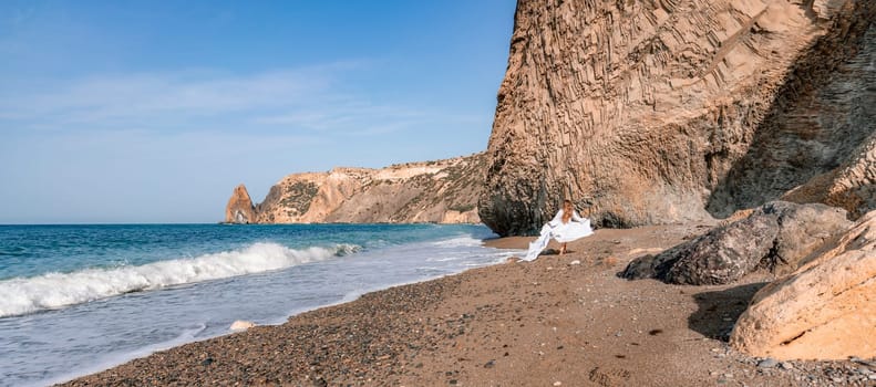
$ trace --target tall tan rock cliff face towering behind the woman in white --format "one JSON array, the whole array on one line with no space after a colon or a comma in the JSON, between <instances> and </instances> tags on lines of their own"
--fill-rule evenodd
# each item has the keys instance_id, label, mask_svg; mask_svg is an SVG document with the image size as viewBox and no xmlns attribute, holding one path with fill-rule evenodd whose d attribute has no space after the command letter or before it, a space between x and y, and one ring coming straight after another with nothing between
<instances>
[{"instance_id":1,"label":"tall tan rock cliff face towering behind the woman in white","mask_svg":"<svg viewBox=\"0 0 876 387\"><path fill-rule=\"evenodd\" d=\"M866 212L874 19L875 1L519 0L482 220L532 233L565 198L602 226L710 220L794 188Z\"/></svg>"}]
</instances>

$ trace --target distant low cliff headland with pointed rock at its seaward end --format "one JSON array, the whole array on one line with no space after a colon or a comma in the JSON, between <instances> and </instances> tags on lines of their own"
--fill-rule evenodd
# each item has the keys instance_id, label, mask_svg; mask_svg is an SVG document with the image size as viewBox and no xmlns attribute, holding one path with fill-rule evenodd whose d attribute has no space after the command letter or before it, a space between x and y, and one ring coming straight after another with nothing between
<instances>
[{"instance_id":1,"label":"distant low cliff headland with pointed rock at its seaward end","mask_svg":"<svg viewBox=\"0 0 876 387\"><path fill-rule=\"evenodd\" d=\"M393 165L382 169L334 168L292 174L247 212L243 186L226 209L231 223L477 223L484 155ZM244 196L246 199L244 199Z\"/></svg>"}]
</instances>

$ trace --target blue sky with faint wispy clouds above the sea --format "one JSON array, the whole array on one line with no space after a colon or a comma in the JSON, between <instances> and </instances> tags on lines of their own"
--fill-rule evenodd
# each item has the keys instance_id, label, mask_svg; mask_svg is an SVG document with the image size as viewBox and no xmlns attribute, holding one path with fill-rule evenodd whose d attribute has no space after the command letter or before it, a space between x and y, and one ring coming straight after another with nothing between
<instances>
[{"instance_id":1,"label":"blue sky with faint wispy clouds above the sea","mask_svg":"<svg viewBox=\"0 0 876 387\"><path fill-rule=\"evenodd\" d=\"M514 0L0 2L0 223L214 222L486 148Z\"/></svg>"}]
</instances>

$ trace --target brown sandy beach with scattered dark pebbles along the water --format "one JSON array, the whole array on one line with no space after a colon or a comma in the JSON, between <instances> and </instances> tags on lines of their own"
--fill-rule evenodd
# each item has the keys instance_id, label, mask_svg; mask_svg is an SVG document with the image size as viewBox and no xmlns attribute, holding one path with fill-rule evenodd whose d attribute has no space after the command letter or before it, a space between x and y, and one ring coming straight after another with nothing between
<instances>
[{"instance_id":1,"label":"brown sandy beach with scattered dark pebbles along the water","mask_svg":"<svg viewBox=\"0 0 876 387\"><path fill-rule=\"evenodd\" d=\"M722 286L617 276L709 229L598 230L507 262L192 343L69 386L873 386L876 364L763 362L726 345L755 273ZM524 248L530 238L491 240ZM552 251L553 249L553 251ZM159 316L156 316L159 318Z\"/></svg>"}]
</instances>

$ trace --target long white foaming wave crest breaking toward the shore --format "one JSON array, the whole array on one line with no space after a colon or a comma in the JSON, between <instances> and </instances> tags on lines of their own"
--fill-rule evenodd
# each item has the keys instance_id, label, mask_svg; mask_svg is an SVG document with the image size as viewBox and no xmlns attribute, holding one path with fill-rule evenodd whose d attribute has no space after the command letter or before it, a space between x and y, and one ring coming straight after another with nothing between
<instances>
[{"instance_id":1,"label":"long white foaming wave crest breaking toward the shore","mask_svg":"<svg viewBox=\"0 0 876 387\"><path fill-rule=\"evenodd\" d=\"M0 317L59 308L114 295L166 286L280 270L358 252L338 244L302 250L259 242L246 249L190 259L158 261L140 266L86 269L0 281Z\"/></svg>"}]
</instances>

